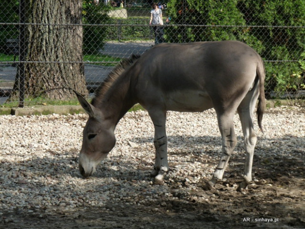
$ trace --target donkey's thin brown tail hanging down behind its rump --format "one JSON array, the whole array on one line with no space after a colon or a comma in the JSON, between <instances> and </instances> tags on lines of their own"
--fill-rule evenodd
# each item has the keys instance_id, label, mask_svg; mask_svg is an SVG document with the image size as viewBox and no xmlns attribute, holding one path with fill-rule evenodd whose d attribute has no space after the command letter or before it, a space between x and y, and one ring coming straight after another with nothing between
<instances>
[{"instance_id":1,"label":"donkey's thin brown tail hanging down behind its rump","mask_svg":"<svg viewBox=\"0 0 305 229\"><path fill-rule=\"evenodd\" d=\"M264 85L265 85L265 65L263 63L263 60L261 59L261 62L259 63L259 65L257 65L257 69L256 69L258 78L259 78L259 98L258 98L258 105L257 105L257 109L256 109L256 114L257 114L257 123L259 126L259 129L263 131L262 128L262 120L263 120L263 115L266 109L266 98L265 98L265 89L264 89Z\"/></svg>"}]
</instances>

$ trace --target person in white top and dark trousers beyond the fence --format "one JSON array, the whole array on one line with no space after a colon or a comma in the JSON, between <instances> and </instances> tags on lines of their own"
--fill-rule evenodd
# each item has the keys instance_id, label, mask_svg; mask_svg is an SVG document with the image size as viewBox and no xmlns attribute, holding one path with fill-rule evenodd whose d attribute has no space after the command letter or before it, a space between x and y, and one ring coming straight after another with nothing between
<instances>
[{"instance_id":1,"label":"person in white top and dark trousers beyond the fence","mask_svg":"<svg viewBox=\"0 0 305 229\"><path fill-rule=\"evenodd\" d=\"M164 32L163 32L163 20L162 20L162 10L158 7L156 3L152 4L151 10L151 20L150 25L153 25L154 31L154 44L159 44L164 42Z\"/></svg>"}]
</instances>

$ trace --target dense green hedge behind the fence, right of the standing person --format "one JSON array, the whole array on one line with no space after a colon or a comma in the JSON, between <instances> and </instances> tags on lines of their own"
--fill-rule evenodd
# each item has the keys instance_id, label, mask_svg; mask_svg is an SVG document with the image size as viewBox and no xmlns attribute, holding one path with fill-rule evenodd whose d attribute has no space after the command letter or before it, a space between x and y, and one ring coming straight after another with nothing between
<instances>
[{"instance_id":1,"label":"dense green hedge behind the fence, right of the standing person","mask_svg":"<svg viewBox=\"0 0 305 229\"><path fill-rule=\"evenodd\" d=\"M267 94L302 89L303 62L274 61L304 61L305 1L169 0L167 6L175 25L166 29L169 42L244 41L267 61Z\"/></svg>"}]
</instances>

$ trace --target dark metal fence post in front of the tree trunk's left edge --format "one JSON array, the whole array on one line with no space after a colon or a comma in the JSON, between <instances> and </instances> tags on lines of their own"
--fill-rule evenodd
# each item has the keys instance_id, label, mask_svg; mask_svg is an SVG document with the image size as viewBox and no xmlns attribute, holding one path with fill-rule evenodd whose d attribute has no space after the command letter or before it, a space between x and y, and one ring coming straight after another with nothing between
<instances>
[{"instance_id":1,"label":"dark metal fence post in front of the tree trunk's left edge","mask_svg":"<svg viewBox=\"0 0 305 229\"><path fill-rule=\"evenodd\" d=\"M20 0L20 27L19 27L19 107L24 107L25 99L25 33L26 33L26 2Z\"/></svg>"}]
</instances>

